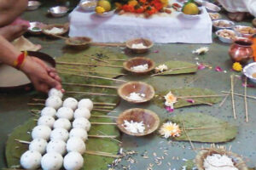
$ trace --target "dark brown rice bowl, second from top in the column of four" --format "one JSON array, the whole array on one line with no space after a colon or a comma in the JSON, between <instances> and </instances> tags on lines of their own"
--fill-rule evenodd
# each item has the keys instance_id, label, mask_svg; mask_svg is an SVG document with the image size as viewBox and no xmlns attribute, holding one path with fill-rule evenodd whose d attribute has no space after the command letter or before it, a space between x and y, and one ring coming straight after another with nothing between
<instances>
[{"instance_id":1,"label":"dark brown rice bowl, second from top in the column of four","mask_svg":"<svg viewBox=\"0 0 256 170\"><path fill-rule=\"evenodd\" d=\"M137 66L137 65L146 65L148 64L148 69L145 71L134 71L132 67ZM124 69L125 71L132 72L134 74L147 74L150 71L154 70L154 61L145 57L135 57L132 59L129 59L124 62Z\"/></svg>"}]
</instances>

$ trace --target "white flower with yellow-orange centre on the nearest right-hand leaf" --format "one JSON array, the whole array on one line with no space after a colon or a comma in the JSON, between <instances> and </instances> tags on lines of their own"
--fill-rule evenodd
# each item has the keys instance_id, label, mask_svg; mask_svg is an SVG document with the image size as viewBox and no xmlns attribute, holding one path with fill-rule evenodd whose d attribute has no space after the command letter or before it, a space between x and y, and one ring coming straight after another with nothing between
<instances>
[{"instance_id":1,"label":"white flower with yellow-orange centre on the nearest right-hand leaf","mask_svg":"<svg viewBox=\"0 0 256 170\"><path fill-rule=\"evenodd\" d=\"M167 139L180 136L181 130L176 123L166 122L160 127L159 133Z\"/></svg>"}]
</instances>

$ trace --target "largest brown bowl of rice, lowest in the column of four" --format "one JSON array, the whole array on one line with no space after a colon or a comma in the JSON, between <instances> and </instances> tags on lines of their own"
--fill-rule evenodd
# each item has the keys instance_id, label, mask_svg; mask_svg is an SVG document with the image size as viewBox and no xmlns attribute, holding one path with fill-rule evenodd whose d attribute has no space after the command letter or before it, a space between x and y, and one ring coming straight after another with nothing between
<instances>
[{"instance_id":1,"label":"largest brown bowl of rice, lowest in the column of four","mask_svg":"<svg viewBox=\"0 0 256 170\"><path fill-rule=\"evenodd\" d=\"M124 121L128 122L143 122L145 125L145 130L143 133L131 133L123 127ZM154 131L160 126L160 118L153 111L145 110L145 109L129 109L121 113L117 119L117 126L120 131L123 133L129 134L131 136L145 136L150 133L154 133Z\"/></svg>"}]
</instances>

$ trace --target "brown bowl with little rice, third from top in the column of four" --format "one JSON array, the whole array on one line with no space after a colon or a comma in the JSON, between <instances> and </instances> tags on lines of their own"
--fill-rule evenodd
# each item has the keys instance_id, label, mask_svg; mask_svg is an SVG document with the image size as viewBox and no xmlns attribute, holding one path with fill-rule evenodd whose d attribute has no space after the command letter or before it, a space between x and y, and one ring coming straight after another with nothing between
<instances>
[{"instance_id":1,"label":"brown bowl with little rice, third from top in the column of four","mask_svg":"<svg viewBox=\"0 0 256 170\"><path fill-rule=\"evenodd\" d=\"M130 99L131 93L144 94L143 99ZM118 89L119 96L133 104L140 104L154 98L154 88L145 82L127 82L121 85Z\"/></svg>"}]
</instances>

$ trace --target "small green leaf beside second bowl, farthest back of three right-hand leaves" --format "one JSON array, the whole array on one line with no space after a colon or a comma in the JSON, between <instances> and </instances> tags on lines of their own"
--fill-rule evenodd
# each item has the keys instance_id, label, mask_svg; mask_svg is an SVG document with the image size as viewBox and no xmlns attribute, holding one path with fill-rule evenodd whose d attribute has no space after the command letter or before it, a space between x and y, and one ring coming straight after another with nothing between
<instances>
[{"instance_id":1,"label":"small green leaf beside second bowl, farthest back of three right-hand leaves","mask_svg":"<svg viewBox=\"0 0 256 170\"><path fill-rule=\"evenodd\" d=\"M160 75L177 75L195 73L197 71L197 65L185 61L166 61L160 65L167 65L168 71L164 71Z\"/></svg>"}]
</instances>

